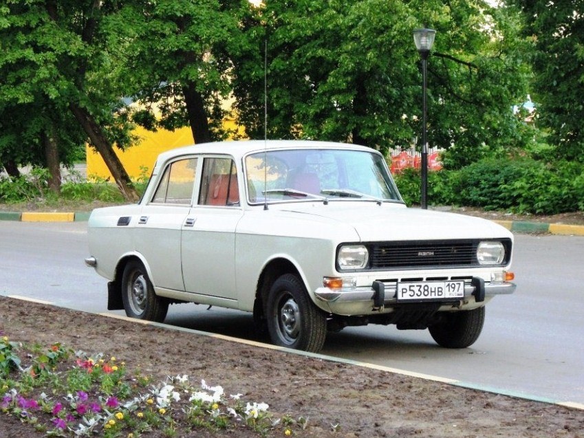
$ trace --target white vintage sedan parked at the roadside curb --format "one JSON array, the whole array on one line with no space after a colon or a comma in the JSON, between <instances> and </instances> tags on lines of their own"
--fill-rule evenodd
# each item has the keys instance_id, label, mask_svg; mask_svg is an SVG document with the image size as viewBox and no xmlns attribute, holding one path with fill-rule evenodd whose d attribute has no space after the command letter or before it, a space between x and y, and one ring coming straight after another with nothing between
<instances>
[{"instance_id":1,"label":"white vintage sedan parked at the roadside curb","mask_svg":"<svg viewBox=\"0 0 584 438\"><path fill-rule=\"evenodd\" d=\"M373 149L217 142L162 153L138 204L94 210L86 263L132 318L199 303L253 312L293 349L369 323L464 348L515 291L512 244L496 223L407 208Z\"/></svg>"}]
</instances>

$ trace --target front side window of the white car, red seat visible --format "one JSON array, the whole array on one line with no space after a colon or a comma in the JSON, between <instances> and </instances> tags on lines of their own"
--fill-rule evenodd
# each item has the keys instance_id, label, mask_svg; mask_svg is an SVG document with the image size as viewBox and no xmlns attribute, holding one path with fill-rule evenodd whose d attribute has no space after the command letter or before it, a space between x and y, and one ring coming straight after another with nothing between
<instances>
[{"instance_id":1,"label":"front side window of the white car, red seat visible","mask_svg":"<svg viewBox=\"0 0 584 438\"><path fill-rule=\"evenodd\" d=\"M237 169L230 158L205 158L199 205L239 206Z\"/></svg>"}]
</instances>

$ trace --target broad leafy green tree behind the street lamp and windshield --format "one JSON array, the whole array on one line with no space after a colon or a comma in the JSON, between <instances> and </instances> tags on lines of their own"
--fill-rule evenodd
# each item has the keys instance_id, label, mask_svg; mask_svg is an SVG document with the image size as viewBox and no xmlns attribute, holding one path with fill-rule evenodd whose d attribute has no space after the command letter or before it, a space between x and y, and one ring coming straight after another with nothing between
<instances>
[{"instance_id":1,"label":"broad leafy green tree behind the street lamp and windshield","mask_svg":"<svg viewBox=\"0 0 584 438\"><path fill-rule=\"evenodd\" d=\"M526 141L511 111L529 74L512 10L480 0L268 1L243 23L256 44L235 58L235 96L252 137L263 135L266 40L270 136L409 146L421 119L412 31L426 25L437 30L431 146L455 146L460 166Z\"/></svg>"}]
</instances>

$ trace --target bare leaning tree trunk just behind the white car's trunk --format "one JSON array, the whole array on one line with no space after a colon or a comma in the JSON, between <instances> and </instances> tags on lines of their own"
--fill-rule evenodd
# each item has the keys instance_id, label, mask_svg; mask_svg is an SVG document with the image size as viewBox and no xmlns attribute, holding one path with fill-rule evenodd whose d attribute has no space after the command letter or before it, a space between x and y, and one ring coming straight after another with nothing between
<instances>
[{"instance_id":1,"label":"bare leaning tree trunk just behind the white car's trunk","mask_svg":"<svg viewBox=\"0 0 584 438\"><path fill-rule=\"evenodd\" d=\"M95 146L97 151L100 153L105 165L109 169L109 173L116 180L118 188L122 195L127 199L127 201L136 202L140 197L136 188L134 188L131 179L126 172L122 162L118 158L118 155L113 152L113 148L109 141L105 137L100 126L94 120L94 118L89 114L89 112L76 104L69 104L69 109L75 116L76 120L79 122L85 133L89 136L91 144Z\"/></svg>"}]
</instances>

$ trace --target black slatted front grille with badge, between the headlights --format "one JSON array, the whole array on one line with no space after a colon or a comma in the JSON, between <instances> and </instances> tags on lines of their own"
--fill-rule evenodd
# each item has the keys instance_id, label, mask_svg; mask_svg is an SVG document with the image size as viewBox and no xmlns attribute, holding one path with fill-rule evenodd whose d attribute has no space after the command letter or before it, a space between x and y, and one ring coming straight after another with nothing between
<instances>
[{"instance_id":1,"label":"black slatted front grille with badge, between the headlights","mask_svg":"<svg viewBox=\"0 0 584 438\"><path fill-rule=\"evenodd\" d=\"M502 241L508 263L511 242ZM370 267L375 270L440 269L444 267L477 267L479 240L376 242L369 247Z\"/></svg>"}]
</instances>

